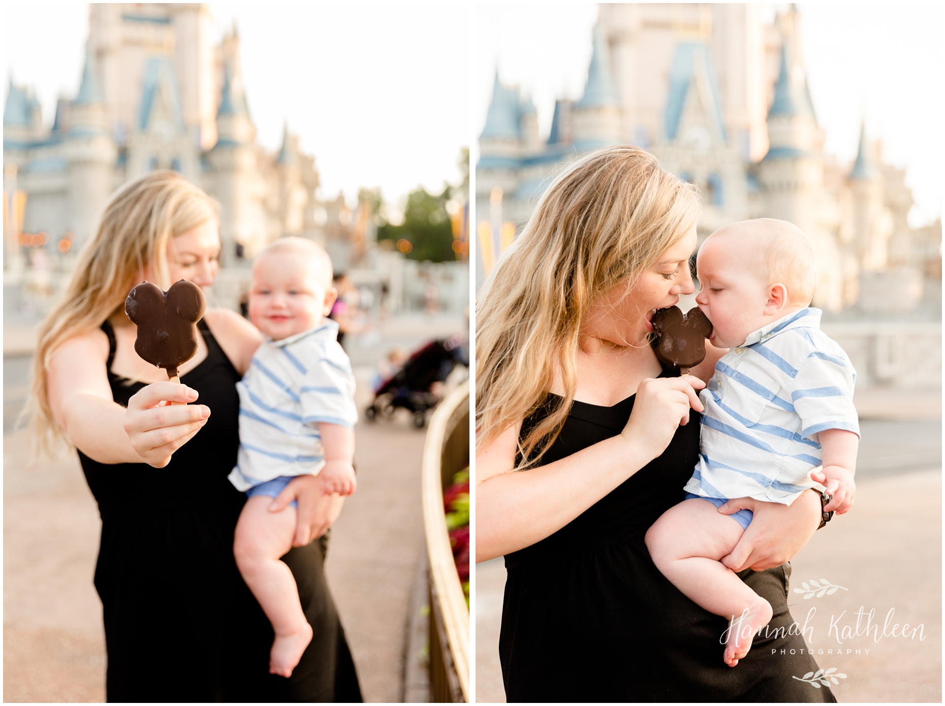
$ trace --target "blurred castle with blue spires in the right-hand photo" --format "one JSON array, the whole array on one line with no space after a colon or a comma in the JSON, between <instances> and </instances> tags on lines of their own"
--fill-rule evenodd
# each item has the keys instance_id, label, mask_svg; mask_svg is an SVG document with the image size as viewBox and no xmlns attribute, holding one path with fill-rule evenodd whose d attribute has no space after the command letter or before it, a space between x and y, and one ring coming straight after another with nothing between
<instances>
[{"instance_id":1,"label":"blurred castle with blue spires in the right-hand photo","mask_svg":"<svg viewBox=\"0 0 945 706\"><path fill-rule=\"evenodd\" d=\"M696 184L700 242L762 216L806 232L819 267L816 306L902 313L919 307L923 287L940 291L941 221L910 228L904 170L883 163L865 128L853 164L824 152L799 11L771 25L762 10L600 5L583 95L556 102L547 138L535 106L496 71L476 165L480 265L488 269L511 242L560 164L634 144Z\"/></svg>"}]
</instances>

